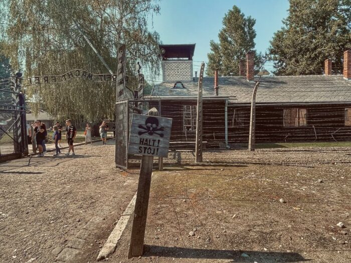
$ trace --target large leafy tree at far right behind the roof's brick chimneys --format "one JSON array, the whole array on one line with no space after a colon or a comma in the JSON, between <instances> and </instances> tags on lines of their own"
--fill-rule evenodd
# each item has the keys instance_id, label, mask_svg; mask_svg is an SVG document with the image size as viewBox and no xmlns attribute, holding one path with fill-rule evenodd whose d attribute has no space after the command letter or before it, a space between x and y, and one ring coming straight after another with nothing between
<instances>
[{"instance_id":1,"label":"large leafy tree at far right behind the roof's brick chimneys","mask_svg":"<svg viewBox=\"0 0 351 263\"><path fill-rule=\"evenodd\" d=\"M342 73L343 51L351 48L350 0L290 0L283 24L268 54L276 74L321 74L325 59Z\"/></svg>"}]
</instances>

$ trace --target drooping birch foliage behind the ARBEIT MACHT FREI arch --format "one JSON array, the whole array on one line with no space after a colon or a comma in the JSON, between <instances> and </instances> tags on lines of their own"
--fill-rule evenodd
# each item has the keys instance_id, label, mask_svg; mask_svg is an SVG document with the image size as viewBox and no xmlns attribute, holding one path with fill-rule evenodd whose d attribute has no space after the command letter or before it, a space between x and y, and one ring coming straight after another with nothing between
<instances>
[{"instance_id":1,"label":"drooping birch foliage behind the ARBEIT MACHT FREI arch","mask_svg":"<svg viewBox=\"0 0 351 263\"><path fill-rule=\"evenodd\" d=\"M2 5L8 14L0 27L5 55L14 69L25 65L25 78L62 75L72 69L108 73L81 31L113 72L118 43L123 43L129 79L135 76L136 61L158 74L159 36L147 27L148 16L159 13L153 0L5 0ZM93 122L114 119L115 89L113 82L73 79L29 86L26 94L34 113L43 109L59 120Z\"/></svg>"}]
</instances>

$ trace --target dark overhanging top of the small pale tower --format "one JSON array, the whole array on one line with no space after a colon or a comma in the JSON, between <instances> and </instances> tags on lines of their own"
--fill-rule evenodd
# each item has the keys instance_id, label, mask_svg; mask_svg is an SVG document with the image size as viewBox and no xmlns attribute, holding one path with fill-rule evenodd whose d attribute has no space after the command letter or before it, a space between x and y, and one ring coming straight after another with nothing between
<instances>
[{"instance_id":1,"label":"dark overhanging top of the small pale tower","mask_svg":"<svg viewBox=\"0 0 351 263\"><path fill-rule=\"evenodd\" d=\"M193 60L195 44L159 45L162 59Z\"/></svg>"}]
</instances>

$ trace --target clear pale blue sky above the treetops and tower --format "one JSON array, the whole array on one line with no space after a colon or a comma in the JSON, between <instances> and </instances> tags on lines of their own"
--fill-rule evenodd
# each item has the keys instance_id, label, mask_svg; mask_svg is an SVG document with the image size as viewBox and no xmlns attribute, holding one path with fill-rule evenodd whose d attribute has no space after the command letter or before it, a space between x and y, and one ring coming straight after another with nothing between
<instances>
[{"instance_id":1,"label":"clear pale blue sky above the treetops and tower","mask_svg":"<svg viewBox=\"0 0 351 263\"><path fill-rule=\"evenodd\" d=\"M256 50L264 53L273 34L288 15L288 0L161 0L160 14L153 16L150 30L159 33L163 44L196 44L193 57L194 71L202 61L207 62L210 41L218 42L222 20L234 5L245 17L256 19ZM265 69L272 70L268 62Z\"/></svg>"}]
</instances>

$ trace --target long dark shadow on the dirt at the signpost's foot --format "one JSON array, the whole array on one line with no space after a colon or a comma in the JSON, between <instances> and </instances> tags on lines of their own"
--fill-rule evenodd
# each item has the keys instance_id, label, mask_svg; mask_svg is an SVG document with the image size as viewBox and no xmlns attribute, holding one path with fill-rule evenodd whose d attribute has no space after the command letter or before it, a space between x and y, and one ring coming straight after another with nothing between
<instances>
[{"instance_id":1,"label":"long dark shadow on the dirt at the signpost's foot","mask_svg":"<svg viewBox=\"0 0 351 263\"><path fill-rule=\"evenodd\" d=\"M157 245L145 245L144 256L160 256L175 258L204 258L204 259L233 259L232 262L252 262L263 260L264 262L301 262L310 261L299 253L272 252L272 251L242 251L242 250L219 250L199 249L184 247L166 247Z\"/></svg>"}]
</instances>

